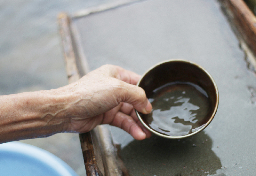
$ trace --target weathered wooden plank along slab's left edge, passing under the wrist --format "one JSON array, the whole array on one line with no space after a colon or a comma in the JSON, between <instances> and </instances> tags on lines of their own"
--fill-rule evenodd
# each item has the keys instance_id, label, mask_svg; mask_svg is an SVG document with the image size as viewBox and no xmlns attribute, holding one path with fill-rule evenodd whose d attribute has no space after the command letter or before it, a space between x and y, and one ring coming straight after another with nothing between
<instances>
[{"instance_id":1,"label":"weathered wooden plank along slab's left edge, passing under the wrist","mask_svg":"<svg viewBox=\"0 0 256 176\"><path fill-rule=\"evenodd\" d=\"M65 13L59 15L60 35L69 83L79 80L89 72L78 33L71 20ZM117 157L112 136L106 127L97 126L88 133L79 134L79 137L87 176L123 175L119 166L122 162Z\"/></svg>"}]
</instances>

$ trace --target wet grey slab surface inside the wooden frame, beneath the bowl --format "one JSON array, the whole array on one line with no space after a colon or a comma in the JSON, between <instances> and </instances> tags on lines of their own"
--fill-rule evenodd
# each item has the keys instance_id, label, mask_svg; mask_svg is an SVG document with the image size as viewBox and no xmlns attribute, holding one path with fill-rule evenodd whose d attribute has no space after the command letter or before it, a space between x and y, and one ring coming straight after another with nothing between
<instances>
[{"instance_id":1,"label":"wet grey slab surface inside the wooden frame, beneath the bowl","mask_svg":"<svg viewBox=\"0 0 256 176\"><path fill-rule=\"evenodd\" d=\"M219 108L203 132L184 140L134 141L110 127L138 175L255 175L255 74L215 0L148 0L74 19L91 70L114 64L143 74L167 59L203 66L219 89Z\"/></svg>"}]
</instances>

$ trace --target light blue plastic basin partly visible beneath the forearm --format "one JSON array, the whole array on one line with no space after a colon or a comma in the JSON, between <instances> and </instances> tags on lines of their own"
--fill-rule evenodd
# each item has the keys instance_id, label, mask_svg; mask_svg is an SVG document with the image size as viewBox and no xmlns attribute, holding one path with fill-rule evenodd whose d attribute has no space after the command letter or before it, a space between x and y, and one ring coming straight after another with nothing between
<instances>
[{"instance_id":1,"label":"light blue plastic basin partly visible beneath the forearm","mask_svg":"<svg viewBox=\"0 0 256 176\"><path fill-rule=\"evenodd\" d=\"M0 144L0 175L77 176L76 172L59 157L21 142Z\"/></svg>"}]
</instances>

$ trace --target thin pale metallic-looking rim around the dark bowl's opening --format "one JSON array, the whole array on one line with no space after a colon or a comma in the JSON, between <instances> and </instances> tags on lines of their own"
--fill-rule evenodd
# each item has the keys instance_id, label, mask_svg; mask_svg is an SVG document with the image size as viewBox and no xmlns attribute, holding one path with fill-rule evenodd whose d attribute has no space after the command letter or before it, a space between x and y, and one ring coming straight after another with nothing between
<instances>
[{"instance_id":1,"label":"thin pale metallic-looking rim around the dark bowl's opening","mask_svg":"<svg viewBox=\"0 0 256 176\"><path fill-rule=\"evenodd\" d=\"M151 66L140 78L140 80L137 82L137 86L139 86L140 84L140 81L144 78L144 76L152 69L154 69L156 66L158 65L161 65L161 64L164 64L164 63L168 63L168 62L184 62L184 63L188 63L188 64L191 64L191 65L195 65L196 67L198 67L199 69L201 69L204 73L206 73L208 75L208 77L210 78L210 80L212 81L213 85L214 85L214 89L216 91L216 94L215 94L215 98L216 98L216 103L215 103L215 107L214 107L214 111L212 112L212 116L211 118L203 125L201 126L201 128L199 128L198 130L190 133L190 134L185 134L185 135L182 135L182 136L170 136L170 135L166 135L166 134L162 134L162 133L159 133L155 130L153 130L152 128L150 128L143 120L142 118L140 117L140 114L137 110L135 110L136 112L136 115L138 117L138 119L140 120L140 122L142 123L143 126L145 126L150 132L158 135L158 136L161 136L161 137L164 137L164 138L168 138L168 139L183 139L183 138L187 138L189 136L193 136L201 131L204 130L204 128L206 128L212 121L212 119L214 118L216 112L217 112L217 109L218 109L218 105L219 105L219 91L218 91L218 88L217 88L217 85L216 85L216 82L213 80L211 74L205 70L202 66L196 64L195 62L191 62L191 61L188 61L188 60L184 60L184 59L169 59L169 60L165 60L165 61L162 61L162 62L159 62L153 66Z\"/></svg>"}]
</instances>

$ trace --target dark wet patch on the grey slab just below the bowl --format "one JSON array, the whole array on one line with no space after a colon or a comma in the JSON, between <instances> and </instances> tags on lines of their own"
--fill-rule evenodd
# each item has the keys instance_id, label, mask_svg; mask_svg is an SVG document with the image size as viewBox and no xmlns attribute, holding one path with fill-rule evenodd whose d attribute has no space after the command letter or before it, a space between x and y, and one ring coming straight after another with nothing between
<instances>
[{"instance_id":1,"label":"dark wet patch on the grey slab just below the bowl","mask_svg":"<svg viewBox=\"0 0 256 176\"><path fill-rule=\"evenodd\" d=\"M182 140L155 135L143 141L134 140L120 155L131 176L206 176L221 168L220 158L212 151L212 140L204 131Z\"/></svg>"}]
</instances>

